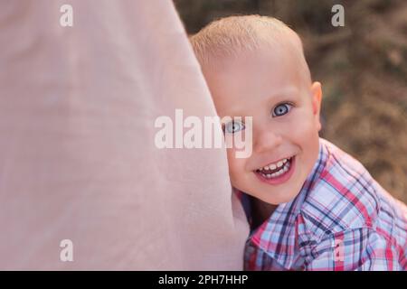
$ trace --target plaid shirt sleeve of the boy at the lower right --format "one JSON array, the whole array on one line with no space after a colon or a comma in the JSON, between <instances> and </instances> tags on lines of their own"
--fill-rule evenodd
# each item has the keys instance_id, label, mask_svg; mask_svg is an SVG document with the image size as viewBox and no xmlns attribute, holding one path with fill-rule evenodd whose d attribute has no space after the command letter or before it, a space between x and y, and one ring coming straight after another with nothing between
<instances>
[{"instance_id":1,"label":"plaid shirt sleeve of the boy at the lower right","mask_svg":"<svg viewBox=\"0 0 407 289\"><path fill-rule=\"evenodd\" d=\"M373 228L350 229L305 248L308 271L395 271L402 270L391 237Z\"/></svg>"}]
</instances>

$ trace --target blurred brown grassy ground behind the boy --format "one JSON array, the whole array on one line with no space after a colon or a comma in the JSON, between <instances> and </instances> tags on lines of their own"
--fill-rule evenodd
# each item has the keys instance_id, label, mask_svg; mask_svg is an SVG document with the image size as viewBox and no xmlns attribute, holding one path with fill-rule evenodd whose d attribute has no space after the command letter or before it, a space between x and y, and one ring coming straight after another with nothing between
<instances>
[{"instance_id":1,"label":"blurred brown grassy ground behind the boy","mask_svg":"<svg viewBox=\"0 0 407 289\"><path fill-rule=\"evenodd\" d=\"M279 18L302 38L314 80L322 83L322 136L355 156L407 203L407 1L174 0L187 33L216 18ZM345 8L334 27L332 6Z\"/></svg>"}]
</instances>

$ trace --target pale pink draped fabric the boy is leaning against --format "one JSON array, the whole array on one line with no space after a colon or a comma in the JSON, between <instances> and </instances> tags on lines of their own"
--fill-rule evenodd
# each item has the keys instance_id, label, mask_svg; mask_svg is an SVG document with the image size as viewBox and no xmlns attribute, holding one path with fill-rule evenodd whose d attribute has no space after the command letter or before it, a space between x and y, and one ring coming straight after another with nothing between
<instances>
[{"instance_id":1,"label":"pale pink draped fabric the boy is leaning against","mask_svg":"<svg viewBox=\"0 0 407 289\"><path fill-rule=\"evenodd\" d=\"M0 269L240 270L225 152L154 144L215 114L172 2L69 3L0 2Z\"/></svg>"}]
</instances>

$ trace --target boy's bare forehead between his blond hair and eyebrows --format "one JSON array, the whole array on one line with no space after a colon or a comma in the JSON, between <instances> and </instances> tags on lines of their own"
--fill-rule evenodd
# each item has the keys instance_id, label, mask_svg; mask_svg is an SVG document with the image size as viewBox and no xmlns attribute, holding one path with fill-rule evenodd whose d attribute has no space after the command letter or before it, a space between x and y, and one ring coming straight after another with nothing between
<instances>
[{"instance_id":1,"label":"boy's bare forehead between his blond hair and eyebrows","mask_svg":"<svg viewBox=\"0 0 407 289\"><path fill-rule=\"evenodd\" d=\"M222 116L241 110L255 111L259 106L268 106L270 101L295 98L307 88L308 82L298 57L282 45L241 51L218 60L204 74Z\"/></svg>"}]
</instances>

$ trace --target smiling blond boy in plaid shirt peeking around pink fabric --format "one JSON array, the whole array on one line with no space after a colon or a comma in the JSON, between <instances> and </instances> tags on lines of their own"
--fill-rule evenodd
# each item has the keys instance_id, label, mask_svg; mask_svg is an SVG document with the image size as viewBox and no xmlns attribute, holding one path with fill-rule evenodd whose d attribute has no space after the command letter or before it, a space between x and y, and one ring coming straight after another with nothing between
<instances>
[{"instance_id":1,"label":"smiling blond boy in plaid shirt peeking around pink fabric","mask_svg":"<svg viewBox=\"0 0 407 289\"><path fill-rule=\"evenodd\" d=\"M218 115L253 117L251 156L228 149L251 223L245 269L407 269L407 209L319 138L321 85L297 33L274 18L232 16L191 42ZM225 134L245 128L226 124Z\"/></svg>"}]
</instances>

